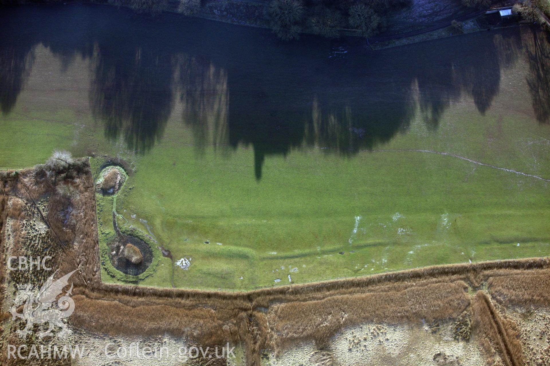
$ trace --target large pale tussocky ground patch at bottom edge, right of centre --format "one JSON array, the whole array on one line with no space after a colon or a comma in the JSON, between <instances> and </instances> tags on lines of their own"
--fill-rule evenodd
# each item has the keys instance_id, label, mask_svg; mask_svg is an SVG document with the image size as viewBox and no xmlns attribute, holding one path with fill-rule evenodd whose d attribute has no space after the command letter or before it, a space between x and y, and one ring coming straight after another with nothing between
<instances>
[{"instance_id":1,"label":"large pale tussocky ground patch at bottom edge, right of centre","mask_svg":"<svg viewBox=\"0 0 550 366\"><path fill-rule=\"evenodd\" d=\"M364 324L346 329L333 338L327 350L313 342L271 354L263 366L468 366L483 365L481 349L472 338L456 341L450 322L437 333L426 326Z\"/></svg>"}]
</instances>

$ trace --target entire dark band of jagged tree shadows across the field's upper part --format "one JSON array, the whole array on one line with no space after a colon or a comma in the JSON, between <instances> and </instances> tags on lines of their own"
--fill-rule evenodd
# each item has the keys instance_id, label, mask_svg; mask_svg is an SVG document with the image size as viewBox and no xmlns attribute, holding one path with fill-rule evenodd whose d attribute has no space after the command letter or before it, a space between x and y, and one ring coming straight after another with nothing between
<instances>
[{"instance_id":1,"label":"entire dark band of jagged tree shadows across the field's upper part","mask_svg":"<svg viewBox=\"0 0 550 366\"><path fill-rule=\"evenodd\" d=\"M109 140L147 153L175 117L197 151L254 150L261 179L267 156L318 149L353 156L375 149L411 122L438 128L449 106L471 98L485 113L501 72L522 50L519 29L479 32L377 52L362 40L334 58L333 44L166 14L151 18L97 5L7 7L0 15L0 107L17 105L36 45L61 61L90 64L92 116ZM175 31L177 30L177 31ZM548 121L548 38L533 30L528 83L539 121ZM227 149L224 149L227 151Z\"/></svg>"}]
</instances>

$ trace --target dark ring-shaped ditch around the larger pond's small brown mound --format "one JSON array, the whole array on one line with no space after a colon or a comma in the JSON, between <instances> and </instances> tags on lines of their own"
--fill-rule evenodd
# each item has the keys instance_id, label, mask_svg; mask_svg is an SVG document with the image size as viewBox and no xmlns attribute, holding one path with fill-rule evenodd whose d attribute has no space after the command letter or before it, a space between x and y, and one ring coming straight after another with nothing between
<instances>
[{"instance_id":1,"label":"dark ring-shaped ditch around the larger pond's small brown mound","mask_svg":"<svg viewBox=\"0 0 550 366\"><path fill-rule=\"evenodd\" d=\"M124 256L124 248L131 244L139 249L142 260L139 263L131 262ZM131 235L119 234L108 243L109 261L118 271L132 276L144 273L153 261L153 250L145 241Z\"/></svg>"}]
</instances>

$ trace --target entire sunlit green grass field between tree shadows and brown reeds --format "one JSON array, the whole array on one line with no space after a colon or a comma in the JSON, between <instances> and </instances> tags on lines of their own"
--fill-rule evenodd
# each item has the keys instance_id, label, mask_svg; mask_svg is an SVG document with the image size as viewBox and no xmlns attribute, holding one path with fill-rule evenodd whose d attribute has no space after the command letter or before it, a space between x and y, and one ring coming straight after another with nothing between
<instances>
[{"instance_id":1,"label":"entire sunlit green grass field between tree shadows and brown reeds","mask_svg":"<svg viewBox=\"0 0 550 366\"><path fill-rule=\"evenodd\" d=\"M0 121L0 168L67 149L94 154L97 179L101 156L128 161L119 224L151 235L175 261L191 258L189 269L175 267L176 287L247 290L289 284L289 276L305 283L550 252L550 126L533 114L521 59L502 72L484 113L465 92L432 128L416 100L410 124L374 150L295 144L266 155L258 179L252 145L197 139L178 114L181 101L147 151L129 149L124 133L106 138L80 87L89 65L77 60L48 74L61 60L43 47L35 58L27 88ZM384 98L393 97L388 90ZM98 199L98 209L104 245L111 199ZM103 281L121 281L102 271ZM168 287L171 274L172 262L160 257L139 283Z\"/></svg>"}]
</instances>

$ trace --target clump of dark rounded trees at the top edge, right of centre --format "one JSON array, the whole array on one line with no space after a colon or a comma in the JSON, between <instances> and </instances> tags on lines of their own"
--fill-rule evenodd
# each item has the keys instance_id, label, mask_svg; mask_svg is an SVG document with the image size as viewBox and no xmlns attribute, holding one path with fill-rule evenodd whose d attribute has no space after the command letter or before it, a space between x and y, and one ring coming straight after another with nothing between
<instances>
[{"instance_id":1,"label":"clump of dark rounded trees at the top edge, right of centre","mask_svg":"<svg viewBox=\"0 0 550 366\"><path fill-rule=\"evenodd\" d=\"M273 0L267 10L274 33L283 40L313 31L337 38L340 30L351 29L364 37L382 31L389 10L404 7L411 0Z\"/></svg>"}]
</instances>

